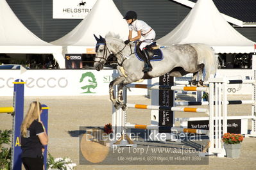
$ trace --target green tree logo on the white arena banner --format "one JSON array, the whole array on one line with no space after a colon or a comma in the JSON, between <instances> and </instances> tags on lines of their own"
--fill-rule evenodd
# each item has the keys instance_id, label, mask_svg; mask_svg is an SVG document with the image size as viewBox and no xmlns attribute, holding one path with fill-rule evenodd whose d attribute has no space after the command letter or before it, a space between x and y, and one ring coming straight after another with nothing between
<instances>
[{"instance_id":1,"label":"green tree logo on the white arena banner","mask_svg":"<svg viewBox=\"0 0 256 170\"><path fill-rule=\"evenodd\" d=\"M90 91L91 88L95 89L98 86L96 78L92 72L83 73L81 75L80 82L83 83L83 87L81 87L81 89L87 90L83 93L96 93Z\"/></svg>"}]
</instances>

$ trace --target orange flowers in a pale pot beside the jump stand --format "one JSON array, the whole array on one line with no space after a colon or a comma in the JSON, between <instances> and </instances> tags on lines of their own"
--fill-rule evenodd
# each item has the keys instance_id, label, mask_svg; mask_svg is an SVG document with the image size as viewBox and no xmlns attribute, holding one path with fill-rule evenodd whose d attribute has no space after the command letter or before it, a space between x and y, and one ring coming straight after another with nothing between
<instances>
[{"instance_id":1,"label":"orange flowers in a pale pot beside the jump stand","mask_svg":"<svg viewBox=\"0 0 256 170\"><path fill-rule=\"evenodd\" d=\"M226 133L222 137L224 148L226 150L226 157L239 158L241 153L241 143L244 137L241 134Z\"/></svg>"}]
</instances>

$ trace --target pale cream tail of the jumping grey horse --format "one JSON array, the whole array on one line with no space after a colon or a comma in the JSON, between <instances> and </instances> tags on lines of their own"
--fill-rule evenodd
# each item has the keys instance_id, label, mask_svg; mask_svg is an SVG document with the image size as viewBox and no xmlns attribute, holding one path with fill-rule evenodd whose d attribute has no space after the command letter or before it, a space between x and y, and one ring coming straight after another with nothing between
<instances>
[{"instance_id":1,"label":"pale cream tail of the jumping grey horse","mask_svg":"<svg viewBox=\"0 0 256 170\"><path fill-rule=\"evenodd\" d=\"M210 75L215 76L218 69L218 58L215 56L214 49L203 43L191 43L190 45L198 53L198 65L201 63L205 65L204 81L208 81Z\"/></svg>"}]
</instances>

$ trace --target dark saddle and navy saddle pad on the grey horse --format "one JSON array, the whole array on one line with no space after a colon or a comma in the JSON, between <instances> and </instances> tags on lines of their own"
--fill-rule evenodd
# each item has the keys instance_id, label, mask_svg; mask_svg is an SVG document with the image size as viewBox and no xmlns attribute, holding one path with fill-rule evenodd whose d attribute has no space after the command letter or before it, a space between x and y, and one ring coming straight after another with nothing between
<instances>
[{"instance_id":1,"label":"dark saddle and navy saddle pad on the grey horse","mask_svg":"<svg viewBox=\"0 0 256 170\"><path fill-rule=\"evenodd\" d=\"M144 54L139 48L141 45L141 42L135 42L135 55L140 61L144 61ZM153 42L145 47L146 51L148 52L149 61L160 61L164 58L164 55L162 54L162 50L157 46L157 42Z\"/></svg>"}]
</instances>

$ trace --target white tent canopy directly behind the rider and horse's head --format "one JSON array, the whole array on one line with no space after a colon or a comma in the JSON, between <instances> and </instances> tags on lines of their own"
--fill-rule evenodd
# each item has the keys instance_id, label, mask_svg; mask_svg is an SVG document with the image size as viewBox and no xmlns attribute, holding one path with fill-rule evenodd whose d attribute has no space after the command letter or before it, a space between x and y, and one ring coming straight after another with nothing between
<instances>
[{"instance_id":1,"label":"white tent canopy directly behind the rider and horse's head","mask_svg":"<svg viewBox=\"0 0 256 170\"><path fill-rule=\"evenodd\" d=\"M112 0L98 0L78 26L51 43L62 45L64 53L87 53L87 49L95 48L94 34L104 37L109 32L126 40L128 25Z\"/></svg>"}]
</instances>

